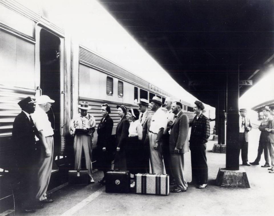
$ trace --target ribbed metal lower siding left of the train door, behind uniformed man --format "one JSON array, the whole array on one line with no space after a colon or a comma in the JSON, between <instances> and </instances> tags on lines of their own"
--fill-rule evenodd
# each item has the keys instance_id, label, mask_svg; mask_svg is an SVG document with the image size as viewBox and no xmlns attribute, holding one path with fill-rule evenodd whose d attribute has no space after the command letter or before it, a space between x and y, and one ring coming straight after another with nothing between
<instances>
[{"instance_id":1,"label":"ribbed metal lower siding left of the train door, behind uniformed man","mask_svg":"<svg viewBox=\"0 0 274 216\"><path fill-rule=\"evenodd\" d=\"M35 90L7 88L0 85L0 167L9 164L11 158L11 133L15 117L21 112L20 100L31 96L34 98Z\"/></svg>"}]
</instances>

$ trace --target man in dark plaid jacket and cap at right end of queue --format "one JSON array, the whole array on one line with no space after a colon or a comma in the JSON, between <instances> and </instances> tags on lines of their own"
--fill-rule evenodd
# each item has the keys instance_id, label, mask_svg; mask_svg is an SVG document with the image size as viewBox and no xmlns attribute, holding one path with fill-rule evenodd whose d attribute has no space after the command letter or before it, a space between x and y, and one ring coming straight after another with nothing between
<instances>
[{"instance_id":1,"label":"man in dark plaid jacket and cap at right end of queue","mask_svg":"<svg viewBox=\"0 0 274 216\"><path fill-rule=\"evenodd\" d=\"M197 188L207 186L208 167L206 159L206 143L210 136L210 125L207 117L202 114L204 104L201 101L194 102L195 117L190 120L191 134L189 148L191 151L192 182Z\"/></svg>"}]
</instances>

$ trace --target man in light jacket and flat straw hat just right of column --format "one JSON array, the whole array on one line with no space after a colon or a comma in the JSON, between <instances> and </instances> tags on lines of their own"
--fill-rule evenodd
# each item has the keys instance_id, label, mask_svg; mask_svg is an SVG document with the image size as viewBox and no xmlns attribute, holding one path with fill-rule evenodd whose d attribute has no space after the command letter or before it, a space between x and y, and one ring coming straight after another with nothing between
<instances>
[{"instance_id":1,"label":"man in light jacket and flat straw hat just right of column","mask_svg":"<svg viewBox=\"0 0 274 216\"><path fill-rule=\"evenodd\" d=\"M240 150L241 150L241 157L244 166L250 166L248 164L248 132L251 131L252 126L250 123L249 118L247 115L247 109L240 109L240 116L239 116L239 143L240 143ZM240 153L240 152L239 152Z\"/></svg>"}]
</instances>

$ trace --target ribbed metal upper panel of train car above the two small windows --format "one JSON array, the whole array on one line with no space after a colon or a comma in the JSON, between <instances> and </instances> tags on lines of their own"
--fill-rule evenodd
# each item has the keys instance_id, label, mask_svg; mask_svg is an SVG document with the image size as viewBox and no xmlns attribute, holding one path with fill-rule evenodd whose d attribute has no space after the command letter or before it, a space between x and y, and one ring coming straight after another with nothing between
<instances>
[{"instance_id":1,"label":"ribbed metal upper panel of train car above the two small windows","mask_svg":"<svg viewBox=\"0 0 274 216\"><path fill-rule=\"evenodd\" d=\"M149 83L147 81L115 65L114 63L101 58L100 56L92 53L90 50L82 46L79 48L79 61L81 64L84 64L88 67L110 74L111 76L125 80L129 83L134 83L140 87L149 89Z\"/></svg>"}]
</instances>

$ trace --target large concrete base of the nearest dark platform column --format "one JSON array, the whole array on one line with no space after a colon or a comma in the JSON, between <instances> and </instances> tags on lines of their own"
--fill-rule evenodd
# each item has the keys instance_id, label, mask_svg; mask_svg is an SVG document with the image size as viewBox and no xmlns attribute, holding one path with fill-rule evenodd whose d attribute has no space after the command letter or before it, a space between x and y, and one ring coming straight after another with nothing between
<instances>
[{"instance_id":1,"label":"large concrete base of the nearest dark platform column","mask_svg":"<svg viewBox=\"0 0 274 216\"><path fill-rule=\"evenodd\" d=\"M245 169L240 167L239 170L226 170L219 168L216 178L217 186L250 188Z\"/></svg>"}]
</instances>

